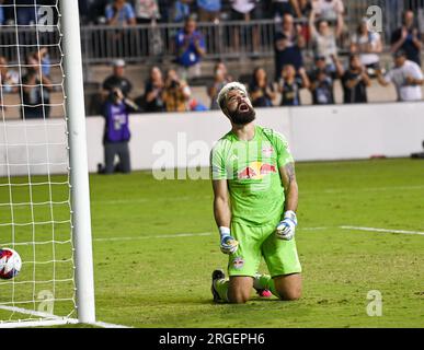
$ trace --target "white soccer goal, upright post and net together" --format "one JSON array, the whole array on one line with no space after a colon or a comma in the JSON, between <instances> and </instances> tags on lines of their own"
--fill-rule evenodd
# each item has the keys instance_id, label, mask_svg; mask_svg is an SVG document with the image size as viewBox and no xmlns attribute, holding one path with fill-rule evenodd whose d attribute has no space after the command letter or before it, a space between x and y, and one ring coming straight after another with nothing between
<instances>
[{"instance_id":1,"label":"white soccer goal, upright post and net together","mask_svg":"<svg viewBox=\"0 0 424 350\"><path fill-rule=\"evenodd\" d=\"M78 1L37 2L3 4L14 19L0 23L0 57L9 60L0 68L18 79L0 75L0 248L23 262L15 278L0 280L0 328L96 322ZM35 23L19 23L24 8ZM45 39L46 27L56 42ZM42 47L59 54L45 63ZM35 62L28 50L38 52ZM48 80L47 67L56 71ZM41 102L28 105L37 92Z\"/></svg>"}]
</instances>

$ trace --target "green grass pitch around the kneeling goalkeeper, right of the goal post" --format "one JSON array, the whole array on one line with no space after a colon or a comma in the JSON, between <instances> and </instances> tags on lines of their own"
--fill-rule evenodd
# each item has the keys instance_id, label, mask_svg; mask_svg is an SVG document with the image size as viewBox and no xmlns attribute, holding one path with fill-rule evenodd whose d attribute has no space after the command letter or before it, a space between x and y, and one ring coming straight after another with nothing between
<instances>
[{"instance_id":1,"label":"green grass pitch around the kneeling goalkeeper, right of the goal post","mask_svg":"<svg viewBox=\"0 0 424 350\"><path fill-rule=\"evenodd\" d=\"M245 305L229 305L211 302L210 273L225 269L227 257L209 180L91 175L98 319L134 327L423 327L424 235L343 226L424 232L424 162L298 163L297 178L302 299L252 293ZM382 295L381 316L367 315L371 290Z\"/></svg>"}]
</instances>

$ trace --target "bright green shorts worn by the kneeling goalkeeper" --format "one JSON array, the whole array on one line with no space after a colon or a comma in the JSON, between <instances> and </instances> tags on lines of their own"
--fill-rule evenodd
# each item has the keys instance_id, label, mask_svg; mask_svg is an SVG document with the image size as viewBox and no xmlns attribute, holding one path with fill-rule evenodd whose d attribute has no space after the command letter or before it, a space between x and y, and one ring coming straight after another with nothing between
<instances>
[{"instance_id":1,"label":"bright green shorts worn by the kneeling goalkeeper","mask_svg":"<svg viewBox=\"0 0 424 350\"><path fill-rule=\"evenodd\" d=\"M231 223L231 235L239 242L239 248L229 257L229 276L254 277L262 256L271 277L301 272L295 238L277 238L275 226L276 224L248 226L239 222Z\"/></svg>"}]
</instances>

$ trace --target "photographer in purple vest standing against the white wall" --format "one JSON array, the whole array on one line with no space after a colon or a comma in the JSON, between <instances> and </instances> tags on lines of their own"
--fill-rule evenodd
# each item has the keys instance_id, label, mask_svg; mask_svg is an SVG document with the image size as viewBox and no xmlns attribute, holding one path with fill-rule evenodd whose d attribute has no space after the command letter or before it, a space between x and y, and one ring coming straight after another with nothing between
<instances>
[{"instance_id":1,"label":"photographer in purple vest standing against the white wall","mask_svg":"<svg viewBox=\"0 0 424 350\"><path fill-rule=\"evenodd\" d=\"M130 139L128 114L134 110L134 103L125 97L118 88L114 88L104 105L105 118L103 144L104 168L99 164L99 173L129 173L131 171L128 142ZM115 156L119 161L115 165Z\"/></svg>"}]
</instances>

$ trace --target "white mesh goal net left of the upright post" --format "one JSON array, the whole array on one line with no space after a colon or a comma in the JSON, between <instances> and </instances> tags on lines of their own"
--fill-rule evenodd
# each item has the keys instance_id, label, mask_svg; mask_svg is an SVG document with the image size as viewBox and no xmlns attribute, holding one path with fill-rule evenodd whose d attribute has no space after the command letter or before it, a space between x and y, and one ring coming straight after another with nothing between
<instances>
[{"instance_id":1,"label":"white mesh goal net left of the upright post","mask_svg":"<svg viewBox=\"0 0 424 350\"><path fill-rule=\"evenodd\" d=\"M12 0L0 11L0 248L22 258L16 277L0 279L0 327L76 322L60 3Z\"/></svg>"}]
</instances>

